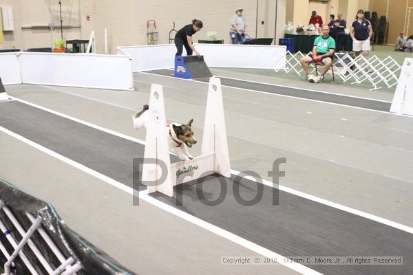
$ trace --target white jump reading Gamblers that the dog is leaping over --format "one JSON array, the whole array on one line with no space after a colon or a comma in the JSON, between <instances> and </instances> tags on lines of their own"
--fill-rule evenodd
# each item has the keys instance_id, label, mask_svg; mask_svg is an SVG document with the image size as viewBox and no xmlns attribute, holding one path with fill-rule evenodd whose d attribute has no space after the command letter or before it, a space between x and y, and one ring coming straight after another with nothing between
<instances>
[{"instance_id":1,"label":"white jump reading Gamblers that the dog is leaping over","mask_svg":"<svg viewBox=\"0 0 413 275\"><path fill-rule=\"evenodd\" d=\"M157 160L153 164L145 163L142 167L142 181L155 183L148 186L149 193L158 191L173 197L173 186L177 184L183 184L213 173L231 177L220 78L210 78L209 80L202 153L198 157L171 164L162 85L153 84L151 86L148 111L144 157L145 159ZM162 171L162 167L157 164L158 161L166 164L167 171ZM165 180L162 180L163 178Z\"/></svg>"}]
</instances>

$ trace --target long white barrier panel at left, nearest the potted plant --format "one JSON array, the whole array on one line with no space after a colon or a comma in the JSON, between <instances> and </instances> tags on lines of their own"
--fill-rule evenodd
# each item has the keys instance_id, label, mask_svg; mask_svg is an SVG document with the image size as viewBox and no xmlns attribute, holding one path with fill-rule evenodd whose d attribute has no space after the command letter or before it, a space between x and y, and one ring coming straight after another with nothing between
<instances>
[{"instance_id":1,"label":"long white barrier panel at left, nearest the potted plant","mask_svg":"<svg viewBox=\"0 0 413 275\"><path fill-rule=\"evenodd\" d=\"M23 83L134 89L129 56L21 52L19 58Z\"/></svg>"}]
</instances>

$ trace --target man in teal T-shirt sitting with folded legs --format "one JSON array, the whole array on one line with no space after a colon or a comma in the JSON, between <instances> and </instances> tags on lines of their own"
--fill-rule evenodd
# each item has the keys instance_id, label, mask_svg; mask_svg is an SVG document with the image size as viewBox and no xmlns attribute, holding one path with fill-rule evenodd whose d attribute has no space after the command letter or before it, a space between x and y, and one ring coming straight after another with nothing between
<instances>
[{"instance_id":1,"label":"man in teal T-shirt sitting with folded legs","mask_svg":"<svg viewBox=\"0 0 413 275\"><path fill-rule=\"evenodd\" d=\"M328 25L323 25L322 30L323 34L318 36L314 41L313 52L308 54L308 56L301 58L300 61L301 67L303 67L304 71L306 71L308 81L310 83L318 83L319 80L324 78L324 74L326 74L328 69L330 69L332 65L332 58L334 57L335 41L328 34L330 32L330 28L328 28ZM311 74L311 70L308 65L313 62L317 63L317 65L324 65L319 76L314 76Z\"/></svg>"}]
</instances>

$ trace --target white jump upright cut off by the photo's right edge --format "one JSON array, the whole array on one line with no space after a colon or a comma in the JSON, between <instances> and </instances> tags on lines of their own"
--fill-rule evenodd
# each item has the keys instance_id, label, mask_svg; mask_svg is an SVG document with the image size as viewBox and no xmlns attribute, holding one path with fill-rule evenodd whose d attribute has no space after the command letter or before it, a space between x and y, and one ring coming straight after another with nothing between
<instances>
[{"instance_id":1,"label":"white jump upright cut off by the photo's right edge","mask_svg":"<svg viewBox=\"0 0 413 275\"><path fill-rule=\"evenodd\" d=\"M390 111L413 115L413 58L405 58Z\"/></svg>"}]
</instances>

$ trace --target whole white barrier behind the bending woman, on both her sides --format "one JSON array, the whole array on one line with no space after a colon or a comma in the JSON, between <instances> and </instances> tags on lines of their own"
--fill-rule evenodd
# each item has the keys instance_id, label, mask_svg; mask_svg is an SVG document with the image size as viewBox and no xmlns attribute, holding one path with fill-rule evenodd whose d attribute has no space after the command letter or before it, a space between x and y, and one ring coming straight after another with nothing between
<instances>
[{"instance_id":1,"label":"whole white barrier behind the bending woman, on both her sides","mask_svg":"<svg viewBox=\"0 0 413 275\"><path fill-rule=\"evenodd\" d=\"M286 65L286 46L195 44L195 47L209 67L284 69ZM118 54L131 56L134 72L171 69L176 47L172 44L118 47Z\"/></svg>"}]
</instances>

